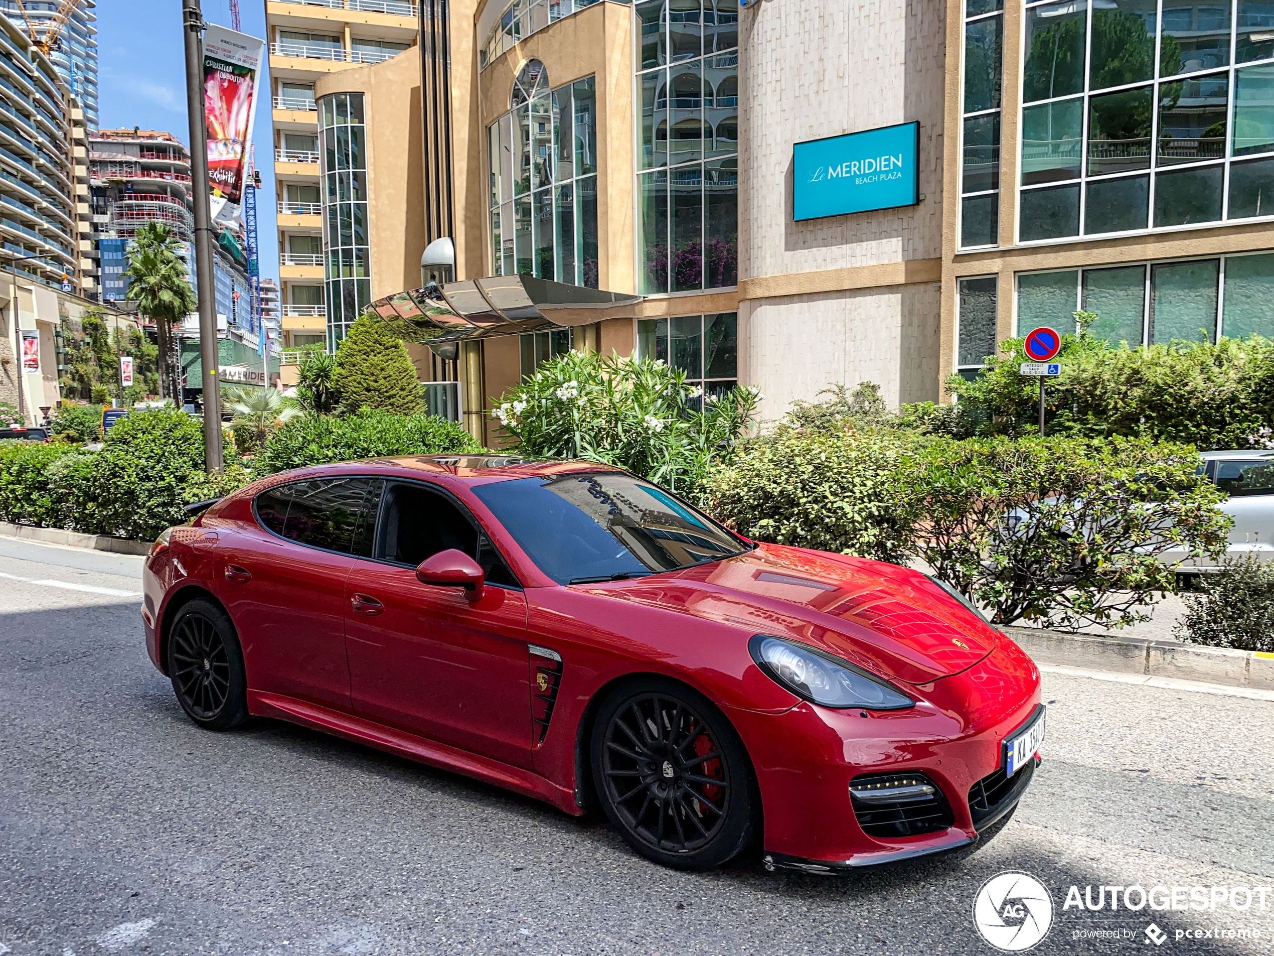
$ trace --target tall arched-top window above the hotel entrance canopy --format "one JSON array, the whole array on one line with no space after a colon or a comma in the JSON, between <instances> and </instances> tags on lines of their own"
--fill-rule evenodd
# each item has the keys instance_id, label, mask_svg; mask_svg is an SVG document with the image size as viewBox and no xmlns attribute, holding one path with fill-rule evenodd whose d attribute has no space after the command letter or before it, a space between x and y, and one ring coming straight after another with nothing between
<instances>
[{"instance_id":1,"label":"tall arched-top window above the hotel entrance canopy","mask_svg":"<svg viewBox=\"0 0 1274 956\"><path fill-rule=\"evenodd\" d=\"M549 89L529 60L487 129L496 275L598 288L598 97L592 76Z\"/></svg>"}]
</instances>

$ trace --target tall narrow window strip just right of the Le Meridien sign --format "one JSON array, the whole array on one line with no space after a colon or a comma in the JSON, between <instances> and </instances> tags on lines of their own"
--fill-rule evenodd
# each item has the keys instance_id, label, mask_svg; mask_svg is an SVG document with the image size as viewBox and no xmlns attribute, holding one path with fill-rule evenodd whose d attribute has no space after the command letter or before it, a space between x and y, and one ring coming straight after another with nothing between
<instances>
[{"instance_id":1,"label":"tall narrow window strip just right of the Le Meridien sign","mask_svg":"<svg viewBox=\"0 0 1274 956\"><path fill-rule=\"evenodd\" d=\"M1004 0L964 0L959 245L994 246L1000 228Z\"/></svg>"}]
</instances>

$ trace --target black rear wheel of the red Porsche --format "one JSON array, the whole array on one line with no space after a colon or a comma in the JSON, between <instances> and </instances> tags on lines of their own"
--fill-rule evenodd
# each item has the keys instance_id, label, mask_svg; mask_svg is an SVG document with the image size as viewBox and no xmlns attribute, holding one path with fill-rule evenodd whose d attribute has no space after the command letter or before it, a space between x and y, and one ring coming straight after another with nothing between
<instances>
[{"instance_id":1,"label":"black rear wheel of the red Porsche","mask_svg":"<svg viewBox=\"0 0 1274 956\"><path fill-rule=\"evenodd\" d=\"M243 654L229 616L204 598L191 600L172 622L168 672L177 702L208 730L247 719Z\"/></svg>"}]
</instances>

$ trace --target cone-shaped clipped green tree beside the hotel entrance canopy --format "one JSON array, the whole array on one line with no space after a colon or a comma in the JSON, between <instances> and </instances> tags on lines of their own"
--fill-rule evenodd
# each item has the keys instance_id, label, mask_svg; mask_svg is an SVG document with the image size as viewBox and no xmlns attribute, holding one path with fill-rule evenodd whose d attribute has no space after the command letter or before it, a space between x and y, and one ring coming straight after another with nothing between
<instances>
[{"instance_id":1,"label":"cone-shaped clipped green tree beside the hotel entrance canopy","mask_svg":"<svg viewBox=\"0 0 1274 956\"><path fill-rule=\"evenodd\" d=\"M362 316L336 349L336 390L341 408L415 414L422 408L420 381L403 342L385 322Z\"/></svg>"}]
</instances>

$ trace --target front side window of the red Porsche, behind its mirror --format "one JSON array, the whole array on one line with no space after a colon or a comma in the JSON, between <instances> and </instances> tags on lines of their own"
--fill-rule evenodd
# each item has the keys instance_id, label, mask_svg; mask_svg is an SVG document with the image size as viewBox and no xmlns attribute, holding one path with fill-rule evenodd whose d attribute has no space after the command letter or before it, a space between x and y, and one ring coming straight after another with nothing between
<instances>
[{"instance_id":1,"label":"front side window of the red Porsche, behind its mirror","mask_svg":"<svg viewBox=\"0 0 1274 956\"><path fill-rule=\"evenodd\" d=\"M517 586L503 558L473 519L446 496L419 484L391 484L378 557L415 567L440 551L462 551L490 584Z\"/></svg>"}]
</instances>

